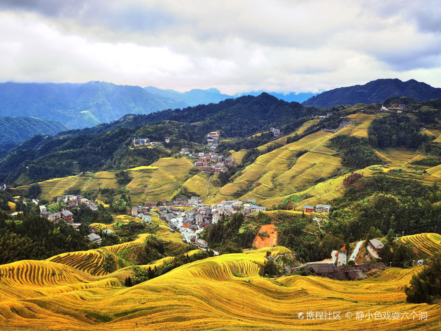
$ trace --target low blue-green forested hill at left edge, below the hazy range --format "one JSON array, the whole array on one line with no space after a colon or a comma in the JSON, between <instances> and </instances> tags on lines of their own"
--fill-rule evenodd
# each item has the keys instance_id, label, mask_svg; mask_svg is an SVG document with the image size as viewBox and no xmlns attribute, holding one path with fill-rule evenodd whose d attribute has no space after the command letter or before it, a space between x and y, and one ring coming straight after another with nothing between
<instances>
[{"instance_id":1,"label":"low blue-green forested hill at left edge, below the hazy range","mask_svg":"<svg viewBox=\"0 0 441 331\"><path fill-rule=\"evenodd\" d=\"M0 116L0 145L21 143L35 134L57 134L68 128L60 121L36 119L34 117Z\"/></svg>"}]
</instances>

